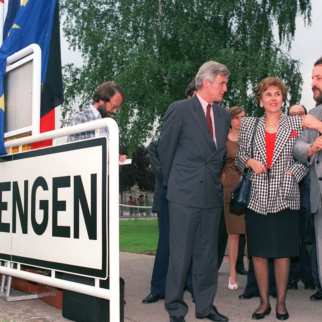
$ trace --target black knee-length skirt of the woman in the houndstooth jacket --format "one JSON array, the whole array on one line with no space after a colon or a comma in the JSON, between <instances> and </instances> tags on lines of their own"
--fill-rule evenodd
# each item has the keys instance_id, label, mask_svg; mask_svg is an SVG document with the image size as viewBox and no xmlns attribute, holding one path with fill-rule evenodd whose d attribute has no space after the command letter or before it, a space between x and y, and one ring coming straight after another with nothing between
<instances>
[{"instance_id":1,"label":"black knee-length skirt of the woman in the houndstooth jacket","mask_svg":"<svg viewBox=\"0 0 322 322\"><path fill-rule=\"evenodd\" d=\"M283 258L299 255L299 210L262 215L246 209L247 251L251 256Z\"/></svg>"}]
</instances>

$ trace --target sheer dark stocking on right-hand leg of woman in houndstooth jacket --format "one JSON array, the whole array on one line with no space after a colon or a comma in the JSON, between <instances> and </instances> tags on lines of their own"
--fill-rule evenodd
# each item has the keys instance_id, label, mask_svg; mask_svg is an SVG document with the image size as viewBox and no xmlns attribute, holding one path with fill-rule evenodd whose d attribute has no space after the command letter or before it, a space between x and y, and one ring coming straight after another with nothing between
<instances>
[{"instance_id":1,"label":"sheer dark stocking on right-hand leg of woman in houndstooth jacket","mask_svg":"<svg viewBox=\"0 0 322 322\"><path fill-rule=\"evenodd\" d=\"M274 271L275 271L275 283L276 283L276 310L280 314L286 313L285 297L287 290L287 283L289 280L289 258L275 258L274 259Z\"/></svg>"}]
</instances>

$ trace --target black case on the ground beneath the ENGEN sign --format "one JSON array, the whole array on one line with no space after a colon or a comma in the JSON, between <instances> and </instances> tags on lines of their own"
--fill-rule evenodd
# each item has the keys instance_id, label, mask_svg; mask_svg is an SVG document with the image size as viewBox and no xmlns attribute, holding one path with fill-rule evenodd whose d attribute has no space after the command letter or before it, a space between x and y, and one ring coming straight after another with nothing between
<instances>
[{"instance_id":1,"label":"black case on the ground beneath the ENGEN sign","mask_svg":"<svg viewBox=\"0 0 322 322\"><path fill-rule=\"evenodd\" d=\"M94 286L89 277L63 274L62 279ZM120 278L120 322L124 322L124 280ZM99 282L99 287L109 288L109 277ZM62 316L77 322L107 322L109 320L109 300L96 298L77 292L63 290ZM115 321L111 321L115 322Z\"/></svg>"}]
</instances>

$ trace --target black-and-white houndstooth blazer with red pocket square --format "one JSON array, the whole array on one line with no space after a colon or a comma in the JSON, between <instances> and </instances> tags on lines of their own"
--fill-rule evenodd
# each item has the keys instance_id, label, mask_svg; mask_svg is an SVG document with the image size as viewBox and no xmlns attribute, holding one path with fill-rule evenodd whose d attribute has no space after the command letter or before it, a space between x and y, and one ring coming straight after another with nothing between
<instances>
[{"instance_id":1,"label":"black-and-white houndstooth blazer with red pocket square","mask_svg":"<svg viewBox=\"0 0 322 322\"><path fill-rule=\"evenodd\" d=\"M255 120L254 117L242 119L235 159L237 168L242 172L244 172L246 161L251 157L251 137ZM300 209L298 182L308 173L308 166L293 158L292 147L302 132L301 120L299 117L280 116L270 168L270 180L265 173L257 175L253 172L249 209L263 215L277 213L286 208ZM254 159L267 168L264 117L259 119L256 128ZM287 170L293 175L285 175Z\"/></svg>"}]
</instances>

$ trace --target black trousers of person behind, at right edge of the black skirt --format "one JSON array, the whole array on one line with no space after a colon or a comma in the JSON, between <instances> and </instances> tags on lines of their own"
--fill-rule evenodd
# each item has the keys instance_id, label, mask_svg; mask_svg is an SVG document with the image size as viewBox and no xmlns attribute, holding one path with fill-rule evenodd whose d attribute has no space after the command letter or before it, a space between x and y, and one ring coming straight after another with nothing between
<instances>
[{"instance_id":1,"label":"black trousers of person behind, at right edge of the black skirt","mask_svg":"<svg viewBox=\"0 0 322 322\"><path fill-rule=\"evenodd\" d=\"M300 255L291 257L291 266L289 270L289 281L305 283L308 279L312 279L311 275L311 256L307 250L305 241L305 211L300 211Z\"/></svg>"}]
</instances>

